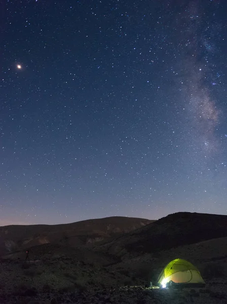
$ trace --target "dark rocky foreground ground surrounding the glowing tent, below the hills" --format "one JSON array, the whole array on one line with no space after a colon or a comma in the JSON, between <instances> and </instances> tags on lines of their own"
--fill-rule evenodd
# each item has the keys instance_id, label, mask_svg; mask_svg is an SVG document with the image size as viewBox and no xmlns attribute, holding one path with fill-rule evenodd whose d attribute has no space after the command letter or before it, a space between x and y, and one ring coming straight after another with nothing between
<instances>
[{"instance_id":1,"label":"dark rocky foreground ground surrounding the glowing tent, below the hills","mask_svg":"<svg viewBox=\"0 0 227 304\"><path fill-rule=\"evenodd\" d=\"M192 248L191 248L192 249ZM182 251L182 248L181 248ZM162 253L165 256L165 252ZM142 263L149 260L153 268ZM155 262L156 260L156 262ZM91 264L76 256L52 256L30 263L4 259L0 263L1 304L227 304L226 260L200 265L206 281L204 288L146 288L145 280L155 279L159 258L137 257L128 262ZM220 262L221 261L221 262ZM28 266L29 265L29 266Z\"/></svg>"}]
</instances>

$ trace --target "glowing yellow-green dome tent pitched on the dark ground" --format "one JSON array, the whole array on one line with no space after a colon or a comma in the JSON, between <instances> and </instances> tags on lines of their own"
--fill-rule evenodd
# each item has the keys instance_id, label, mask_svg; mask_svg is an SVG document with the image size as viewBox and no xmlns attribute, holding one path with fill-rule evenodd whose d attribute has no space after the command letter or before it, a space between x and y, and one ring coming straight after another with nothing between
<instances>
[{"instance_id":1,"label":"glowing yellow-green dome tent pitched on the dark ground","mask_svg":"<svg viewBox=\"0 0 227 304\"><path fill-rule=\"evenodd\" d=\"M204 286L205 282L199 272L199 270L190 262L177 258L166 265L161 272L158 283L163 288L168 283L177 283L185 286Z\"/></svg>"}]
</instances>

